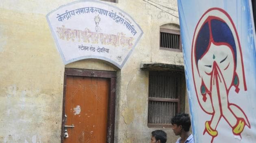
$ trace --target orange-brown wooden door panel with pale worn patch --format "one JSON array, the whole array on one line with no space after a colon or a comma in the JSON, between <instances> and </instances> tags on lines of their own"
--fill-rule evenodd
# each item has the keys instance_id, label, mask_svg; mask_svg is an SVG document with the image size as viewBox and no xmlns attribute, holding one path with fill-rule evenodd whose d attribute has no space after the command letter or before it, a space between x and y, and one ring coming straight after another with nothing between
<instances>
[{"instance_id":1,"label":"orange-brown wooden door panel with pale worn patch","mask_svg":"<svg viewBox=\"0 0 256 143\"><path fill-rule=\"evenodd\" d=\"M65 91L64 143L106 143L109 79L67 76Z\"/></svg>"}]
</instances>

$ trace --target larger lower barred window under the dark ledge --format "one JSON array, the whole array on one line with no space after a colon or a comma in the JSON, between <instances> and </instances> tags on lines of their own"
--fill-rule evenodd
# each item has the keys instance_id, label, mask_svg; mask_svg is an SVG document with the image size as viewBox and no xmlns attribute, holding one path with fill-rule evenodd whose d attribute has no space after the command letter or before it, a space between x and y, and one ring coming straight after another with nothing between
<instances>
[{"instance_id":1,"label":"larger lower barred window under the dark ledge","mask_svg":"<svg viewBox=\"0 0 256 143\"><path fill-rule=\"evenodd\" d=\"M149 72L148 127L171 127L181 110L182 81L178 72Z\"/></svg>"}]
</instances>

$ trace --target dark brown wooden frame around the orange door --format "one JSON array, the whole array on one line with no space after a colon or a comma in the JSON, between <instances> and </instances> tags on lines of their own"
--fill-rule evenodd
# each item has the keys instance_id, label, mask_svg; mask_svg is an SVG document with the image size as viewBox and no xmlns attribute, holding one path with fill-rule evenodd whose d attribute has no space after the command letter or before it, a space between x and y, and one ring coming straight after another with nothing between
<instances>
[{"instance_id":1,"label":"dark brown wooden frame around the orange door","mask_svg":"<svg viewBox=\"0 0 256 143\"><path fill-rule=\"evenodd\" d=\"M61 143L64 142L64 126L65 126L65 96L66 96L66 78L67 76L84 76L96 78L108 78L110 90L108 96L108 117L107 117L107 135L106 142L114 143L115 135L115 91L116 91L116 71L98 71L91 69L73 69L65 68L64 84L63 84L63 107L62 107L62 124L61 124Z\"/></svg>"}]
</instances>

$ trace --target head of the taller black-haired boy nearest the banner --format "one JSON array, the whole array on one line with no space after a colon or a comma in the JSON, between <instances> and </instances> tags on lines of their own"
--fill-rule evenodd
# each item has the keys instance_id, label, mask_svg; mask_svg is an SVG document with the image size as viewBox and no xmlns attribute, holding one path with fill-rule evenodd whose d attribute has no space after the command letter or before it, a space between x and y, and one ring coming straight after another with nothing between
<instances>
[{"instance_id":1,"label":"head of the taller black-haired boy nearest the banner","mask_svg":"<svg viewBox=\"0 0 256 143\"><path fill-rule=\"evenodd\" d=\"M172 129L174 130L175 135L180 135L182 130L184 130L184 132L189 132L191 126L189 114L177 114L171 119L171 124L173 125Z\"/></svg>"}]
</instances>

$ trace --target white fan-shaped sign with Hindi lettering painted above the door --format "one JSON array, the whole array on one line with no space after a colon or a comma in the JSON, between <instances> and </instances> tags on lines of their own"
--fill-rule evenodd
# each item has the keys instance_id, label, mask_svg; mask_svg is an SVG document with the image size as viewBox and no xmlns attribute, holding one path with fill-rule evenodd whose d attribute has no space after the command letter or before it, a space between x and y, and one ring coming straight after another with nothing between
<instances>
[{"instance_id":1,"label":"white fan-shaped sign with Hindi lettering painted above the door","mask_svg":"<svg viewBox=\"0 0 256 143\"><path fill-rule=\"evenodd\" d=\"M46 17L65 64L93 58L121 69L143 34L130 15L99 1L72 2Z\"/></svg>"}]
</instances>

